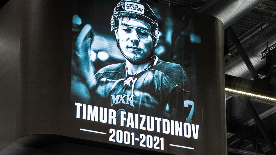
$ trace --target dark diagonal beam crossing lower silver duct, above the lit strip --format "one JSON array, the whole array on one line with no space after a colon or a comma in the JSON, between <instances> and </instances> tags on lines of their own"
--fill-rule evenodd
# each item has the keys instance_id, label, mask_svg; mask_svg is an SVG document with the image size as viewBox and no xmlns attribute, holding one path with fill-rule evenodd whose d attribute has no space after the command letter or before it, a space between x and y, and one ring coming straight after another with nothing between
<instances>
[{"instance_id":1,"label":"dark diagonal beam crossing lower silver duct, above the lit strip","mask_svg":"<svg viewBox=\"0 0 276 155\"><path fill-rule=\"evenodd\" d=\"M233 28L231 26L229 26L228 28L228 33L230 35L230 37L232 38L237 50L239 51L239 54L241 55L242 59L244 60L250 74L254 77L254 79L258 79L258 74L254 68L254 66L252 65L251 61L249 60L246 52L244 51L244 48L241 46L241 43L239 42L238 37L236 36Z\"/></svg>"}]
</instances>

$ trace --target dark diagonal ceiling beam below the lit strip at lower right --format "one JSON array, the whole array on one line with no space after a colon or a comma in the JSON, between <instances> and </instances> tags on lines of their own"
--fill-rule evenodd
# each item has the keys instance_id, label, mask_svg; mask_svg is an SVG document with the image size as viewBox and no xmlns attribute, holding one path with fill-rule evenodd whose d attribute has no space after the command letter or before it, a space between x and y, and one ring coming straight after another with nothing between
<instances>
[{"instance_id":1,"label":"dark diagonal ceiling beam below the lit strip at lower right","mask_svg":"<svg viewBox=\"0 0 276 155\"><path fill-rule=\"evenodd\" d=\"M253 104L251 103L250 98L242 96L241 99L246 104L246 106L247 106L248 110L250 111L252 117L254 118L258 128L260 129L262 135L264 136L264 139L267 141L272 154L276 155L275 144L274 144L273 140L271 139L271 137L265 131L264 125L262 124L262 121L261 121L260 117L258 116L258 113L256 112Z\"/></svg>"}]
</instances>

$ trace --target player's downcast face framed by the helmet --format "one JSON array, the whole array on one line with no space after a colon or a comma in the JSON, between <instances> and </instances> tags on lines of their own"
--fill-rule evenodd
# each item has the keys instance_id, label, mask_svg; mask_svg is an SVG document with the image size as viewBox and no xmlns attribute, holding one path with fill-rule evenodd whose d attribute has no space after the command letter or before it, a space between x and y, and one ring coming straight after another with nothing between
<instances>
[{"instance_id":1,"label":"player's downcast face framed by the helmet","mask_svg":"<svg viewBox=\"0 0 276 155\"><path fill-rule=\"evenodd\" d=\"M143 20L122 18L118 30L115 31L122 52L131 61L147 59L153 48L150 25Z\"/></svg>"}]
</instances>

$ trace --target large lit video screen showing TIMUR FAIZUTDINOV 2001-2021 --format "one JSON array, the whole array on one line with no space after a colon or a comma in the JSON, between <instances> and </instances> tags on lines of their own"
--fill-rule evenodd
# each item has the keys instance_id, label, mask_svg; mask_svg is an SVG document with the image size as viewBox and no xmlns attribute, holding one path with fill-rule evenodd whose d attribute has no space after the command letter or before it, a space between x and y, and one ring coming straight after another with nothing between
<instances>
[{"instance_id":1,"label":"large lit video screen showing TIMUR FAIZUTDINOV 2001-2021","mask_svg":"<svg viewBox=\"0 0 276 155\"><path fill-rule=\"evenodd\" d=\"M208 20L152 1L73 1L75 131L97 142L199 154L202 104L212 104L199 92L213 79L198 76L216 69L202 58L216 55Z\"/></svg>"}]
</instances>

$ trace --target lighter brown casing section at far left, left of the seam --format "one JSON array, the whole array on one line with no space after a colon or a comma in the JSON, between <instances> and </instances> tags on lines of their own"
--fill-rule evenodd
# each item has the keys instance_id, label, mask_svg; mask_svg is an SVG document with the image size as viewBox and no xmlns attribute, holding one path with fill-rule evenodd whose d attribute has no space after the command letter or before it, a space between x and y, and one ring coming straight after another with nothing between
<instances>
[{"instance_id":1,"label":"lighter brown casing section at far left, left of the seam","mask_svg":"<svg viewBox=\"0 0 276 155\"><path fill-rule=\"evenodd\" d=\"M19 73L21 20L17 2L9 1L0 9L0 149L16 138L16 113L22 103Z\"/></svg>"}]
</instances>

